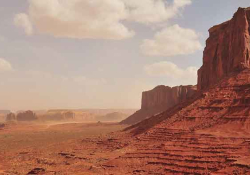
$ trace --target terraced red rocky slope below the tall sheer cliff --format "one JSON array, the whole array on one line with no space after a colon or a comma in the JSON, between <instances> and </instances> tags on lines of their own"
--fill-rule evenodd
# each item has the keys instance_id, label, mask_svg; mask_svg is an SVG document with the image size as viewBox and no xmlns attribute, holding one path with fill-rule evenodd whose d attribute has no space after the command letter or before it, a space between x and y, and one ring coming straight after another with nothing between
<instances>
[{"instance_id":1,"label":"terraced red rocky slope below the tall sheer cliff","mask_svg":"<svg viewBox=\"0 0 250 175\"><path fill-rule=\"evenodd\" d=\"M233 72L194 99L127 128L134 143L105 171L250 174L249 76L250 69Z\"/></svg>"}]
</instances>

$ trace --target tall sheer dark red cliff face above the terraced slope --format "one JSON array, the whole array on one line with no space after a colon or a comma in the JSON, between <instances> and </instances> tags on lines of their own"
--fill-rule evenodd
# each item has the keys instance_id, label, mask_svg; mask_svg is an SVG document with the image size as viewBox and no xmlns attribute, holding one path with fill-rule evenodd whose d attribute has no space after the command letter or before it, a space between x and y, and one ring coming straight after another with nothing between
<instances>
[{"instance_id":1,"label":"tall sheer dark red cliff face above the terraced slope","mask_svg":"<svg viewBox=\"0 0 250 175\"><path fill-rule=\"evenodd\" d=\"M239 8L230 21L209 30L203 66L198 71L198 90L203 90L234 71L249 68L250 8Z\"/></svg>"}]
</instances>

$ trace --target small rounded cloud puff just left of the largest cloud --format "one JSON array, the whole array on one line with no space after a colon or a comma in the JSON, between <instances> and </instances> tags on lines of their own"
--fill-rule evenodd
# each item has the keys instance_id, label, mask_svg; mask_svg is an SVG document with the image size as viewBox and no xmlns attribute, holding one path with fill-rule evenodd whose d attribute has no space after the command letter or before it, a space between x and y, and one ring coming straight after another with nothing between
<instances>
[{"instance_id":1,"label":"small rounded cloud puff just left of the largest cloud","mask_svg":"<svg viewBox=\"0 0 250 175\"><path fill-rule=\"evenodd\" d=\"M31 21L29 19L29 16L25 13L17 14L14 18L14 23L16 26L23 28L27 35L33 34L33 27Z\"/></svg>"}]
</instances>

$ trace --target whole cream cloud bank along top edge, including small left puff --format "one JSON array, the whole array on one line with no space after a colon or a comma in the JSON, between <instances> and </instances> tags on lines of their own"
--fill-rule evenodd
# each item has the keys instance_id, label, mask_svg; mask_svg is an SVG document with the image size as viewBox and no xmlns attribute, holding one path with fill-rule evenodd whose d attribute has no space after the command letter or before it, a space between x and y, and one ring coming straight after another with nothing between
<instances>
[{"instance_id":1,"label":"whole cream cloud bank along top edge, including small left puff","mask_svg":"<svg viewBox=\"0 0 250 175\"><path fill-rule=\"evenodd\" d=\"M170 1L170 0L169 0ZM191 0L29 0L15 24L33 33L64 38L126 39L134 35L124 21L161 23L179 14ZM31 25L32 22L32 25Z\"/></svg>"}]
</instances>

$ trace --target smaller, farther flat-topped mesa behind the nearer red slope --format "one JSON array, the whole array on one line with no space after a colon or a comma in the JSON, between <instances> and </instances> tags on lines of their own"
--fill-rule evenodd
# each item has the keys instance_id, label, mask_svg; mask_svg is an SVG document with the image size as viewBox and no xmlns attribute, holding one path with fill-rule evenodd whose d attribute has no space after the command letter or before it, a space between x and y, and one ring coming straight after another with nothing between
<instances>
[{"instance_id":1,"label":"smaller, farther flat-topped mesa behind the nearer red slope","mask_svg":"<svg viewBox=\"0 0 250 175\"><path fill-rule=\"evenodd\" d=\"M142 93L141 109L123 120L122 124L135 124L156 115L170 107L191 98L197 91L196 86L157 86Z\"/></svg>"}]
</instances>

